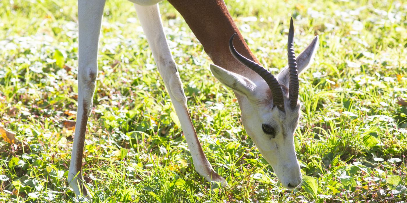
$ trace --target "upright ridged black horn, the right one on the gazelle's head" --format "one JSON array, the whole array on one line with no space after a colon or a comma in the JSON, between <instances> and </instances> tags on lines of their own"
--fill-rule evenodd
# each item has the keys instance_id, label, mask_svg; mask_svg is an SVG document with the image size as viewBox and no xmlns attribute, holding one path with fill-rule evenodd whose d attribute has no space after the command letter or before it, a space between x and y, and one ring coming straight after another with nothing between
<instances>
[{"instance_id":1,"label":"upright ridged black horn, the right one on the gazelle's head","mask_svg":"<svg viewBox=\"0 0 407 203\"><path fill-rule=\"evenodd\" d=\"M290 30L288 31L288 43L287 43L288 68L289 68L289 76L290 76L288 94L289 94L291 109L293 109L297 106L298 91L299 91L297 60L295 59L293 41L294 41L294 26L293 26L293 17L291 17Z\"/></svg>"}]
</instances>

